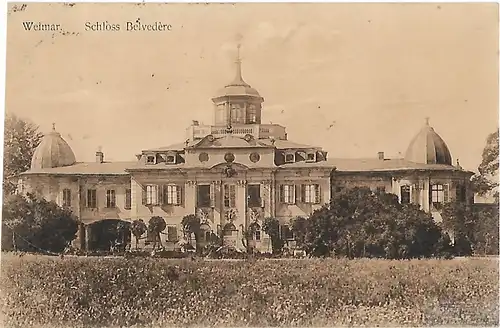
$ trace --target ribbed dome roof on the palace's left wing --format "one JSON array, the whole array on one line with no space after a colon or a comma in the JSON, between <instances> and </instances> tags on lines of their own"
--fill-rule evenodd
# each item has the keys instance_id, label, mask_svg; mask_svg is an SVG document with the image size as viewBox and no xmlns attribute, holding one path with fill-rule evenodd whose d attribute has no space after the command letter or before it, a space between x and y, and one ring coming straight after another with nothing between
<instances>
[{"instance_id":1,"label":"ribbed dome roof on the palace's left wing","mask_svg":"<svg viewBox=\"0 0 500 328\"><path fill-rule=\"evenodd\" d=\"M75 162L73 150L56 131L55 124L53 124L52 131L43 137L33 154L31 169L69 166Z\"/></svg>"}]
</instances>

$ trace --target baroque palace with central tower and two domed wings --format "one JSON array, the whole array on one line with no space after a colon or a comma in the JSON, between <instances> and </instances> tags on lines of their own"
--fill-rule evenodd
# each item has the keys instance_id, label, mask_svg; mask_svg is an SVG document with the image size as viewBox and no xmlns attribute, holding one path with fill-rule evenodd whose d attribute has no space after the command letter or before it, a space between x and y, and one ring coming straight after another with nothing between
<instances>
[{"instance_id":1,"label":"baroque palace with central tower and two domed wings","mask_svg":"<svg viewBox=\"0 0 500 328\"><path fill-rule=\"evenodd\" d=\"M428 121L403 159L382 152L333 159L321 147L289 140L284 126L262 123L264 98L243 80L239 59L234 80L212 102L213 125L193 121L185 142L142 150L135 162L107 162L102 151L95 162L77 162L54 126L36 149L31 169L20 175L18 192L71 208L80 220L75 244L87 249L99 238L100 222L147 224L154 216L167 223L163 245L175 248L184 236L182 218L195 214L202 221L202 243L213 233L241 249L243 233L253 225L256 248L269 252L264 218L279 219L282 236L291 240L291 218L307 218L332 193L354 186L396 194L438 221L444 202L473 202L473 173L452 164L446 143Z\"/></svg>"}]
</instances>

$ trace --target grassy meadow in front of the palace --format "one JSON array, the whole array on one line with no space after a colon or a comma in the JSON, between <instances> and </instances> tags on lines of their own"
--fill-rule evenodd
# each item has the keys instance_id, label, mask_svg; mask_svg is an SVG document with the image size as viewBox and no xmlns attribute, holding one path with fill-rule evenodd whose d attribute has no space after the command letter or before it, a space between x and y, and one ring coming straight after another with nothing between
<instances>
[{"instance_id":1,"label":"grassy meadow in front of the palace","mask_svg":"<svg viewBox=\"0 0 500 328\"><path fill-rule=\"evenodd\" d=\"M5 327L498 324L496 259L2 256Z\"/></svg>"}]
</instances>

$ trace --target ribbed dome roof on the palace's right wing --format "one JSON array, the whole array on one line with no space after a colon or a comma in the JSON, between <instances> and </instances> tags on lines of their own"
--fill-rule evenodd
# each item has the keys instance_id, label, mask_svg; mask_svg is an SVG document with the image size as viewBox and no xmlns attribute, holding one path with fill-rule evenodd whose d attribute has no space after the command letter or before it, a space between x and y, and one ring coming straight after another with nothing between
<instances>
[{"instance_id":1,"label":"ribbed dome roof on the palace's right wing","mask_svg":"<svg viewBox=\"0 0 500 328\"><path fill-rule=\"evenodd\" d=\"M410 142L405 160L422 164L452 165L450 150L429 125L429 119L426 119L425 126Z\"/></svg>"}]
</instances>

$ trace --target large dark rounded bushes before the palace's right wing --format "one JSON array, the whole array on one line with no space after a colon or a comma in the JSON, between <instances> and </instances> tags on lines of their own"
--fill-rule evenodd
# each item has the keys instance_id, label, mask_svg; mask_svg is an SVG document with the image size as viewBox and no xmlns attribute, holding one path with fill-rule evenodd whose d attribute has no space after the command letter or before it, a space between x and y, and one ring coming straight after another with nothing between
<instances>
[{"instance_id":1,"label":"large dark rounded bushes before the palace's right wing","mask_svg":"<svg viewBox=\"0 0 500 328\"><path fill-rule=\"evenodd\" d=\"M334 194L306 227L304 241L313 256L430 257L449 247L429 214L400 204L395 195L368 188Z\"/></svg>"}]
</instances>

